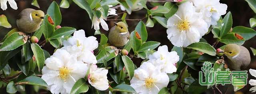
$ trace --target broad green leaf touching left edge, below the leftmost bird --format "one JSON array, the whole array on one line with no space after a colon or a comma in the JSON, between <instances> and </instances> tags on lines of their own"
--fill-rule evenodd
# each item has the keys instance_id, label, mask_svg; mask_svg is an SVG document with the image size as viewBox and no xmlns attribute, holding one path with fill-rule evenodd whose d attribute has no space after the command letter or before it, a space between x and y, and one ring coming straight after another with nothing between
<instances>
[{"instance_id":1,"label":"broad green leaf touching left edge, below the leftmost bird","mask_svg":"<svg viewBox=\"0 0 256 94\"><path fill-rule=\"evenodd\" d=\"M23 35L19 35L19 33L21 32L15 32L6 38L6 40L4 40L3 44L0 46L0 51L14 50L25 44L27 40L24 40L25 37Z\"/></svg>"}]
</instances>

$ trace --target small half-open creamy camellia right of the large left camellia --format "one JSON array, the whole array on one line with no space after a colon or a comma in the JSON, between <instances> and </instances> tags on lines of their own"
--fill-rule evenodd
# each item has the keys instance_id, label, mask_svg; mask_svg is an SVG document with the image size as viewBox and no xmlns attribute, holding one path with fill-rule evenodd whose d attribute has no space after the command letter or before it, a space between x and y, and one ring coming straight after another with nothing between
<instances>
[{"instance_id":1,"label":"small half-open creamy camellia right of the large left camellia","mask_svg":"<svg viewBox=\"0 0 256 94\"><path fill-rule=\"evenodd\" d=\"M90 67L88 82L98 90L108 89L108 70L105 68L97 68L97 65Z\"/></svg>"}]
</instances>

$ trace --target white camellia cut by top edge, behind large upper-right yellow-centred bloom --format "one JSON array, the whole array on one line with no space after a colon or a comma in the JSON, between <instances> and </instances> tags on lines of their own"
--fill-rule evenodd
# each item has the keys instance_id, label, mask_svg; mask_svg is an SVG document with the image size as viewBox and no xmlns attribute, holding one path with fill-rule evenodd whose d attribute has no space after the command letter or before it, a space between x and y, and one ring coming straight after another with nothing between
<instances>
[{"instance_id":1,"label":"white camellia cut by top edge, behind large upper-right yellow-centred bloom","mask_svg":"<svg viewBox=\"0 0 256 94\"><path fill-rule=\"evenodd\" d=\"M197 12L203 14L203 19L210 25L217 25L221 15L226 14L228 6L220 4L220 0L192 0Z\"/></svg>"}]
</instances>

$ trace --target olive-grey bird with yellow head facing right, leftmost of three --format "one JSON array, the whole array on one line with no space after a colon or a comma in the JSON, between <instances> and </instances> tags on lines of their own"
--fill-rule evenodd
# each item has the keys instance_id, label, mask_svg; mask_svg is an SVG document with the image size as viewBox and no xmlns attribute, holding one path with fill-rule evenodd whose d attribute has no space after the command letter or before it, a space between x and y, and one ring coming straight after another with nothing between
<instances>
[{"instance_id":1,"label":"olive-grey bird with yellow head facing right, leftmost of three","mask_svg":"<svg viewBox=\"0 0 256 94\"><path fill-rule=\"evenodd\" d=\"M19 31L32 33L40 28L43 19L44 12L42 10L26 8L18 14L16 23Z\"/></svg>"}]
</instances>

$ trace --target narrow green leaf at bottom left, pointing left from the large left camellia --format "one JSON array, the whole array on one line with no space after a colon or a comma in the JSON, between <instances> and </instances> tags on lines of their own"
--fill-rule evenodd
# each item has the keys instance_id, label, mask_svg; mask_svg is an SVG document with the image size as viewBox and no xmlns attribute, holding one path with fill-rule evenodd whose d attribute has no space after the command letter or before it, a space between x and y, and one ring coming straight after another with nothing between
<instances>
[{"instance_id":1,"label":"narrow green leaf at bottom left, pointing left from the large left camellia","mask_svg":"<svg viewBox=\"0 0 256 94\"><path fill-rule=\"evenodd\" d=\"M30 84L30 85L38 85L38 86L48 87L48 85L46 84L46 82L43 79L41 79L40 77L36 77L36 76L26 77L22 81L19 81L19 83L20 82L24 82L25 84Z\"/></svg>"}]
</instances>

